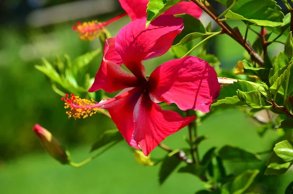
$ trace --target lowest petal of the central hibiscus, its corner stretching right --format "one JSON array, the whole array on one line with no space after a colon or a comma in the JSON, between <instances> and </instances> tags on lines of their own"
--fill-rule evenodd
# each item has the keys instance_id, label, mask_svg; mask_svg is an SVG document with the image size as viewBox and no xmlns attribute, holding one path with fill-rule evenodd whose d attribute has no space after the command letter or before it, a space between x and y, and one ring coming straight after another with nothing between
<instances>
[{"instance_id":1,"label":"lowest petal of the central hibiscus, its corner stretching right","mask_svg":"<svg viewBox=\"0 0 293 194\"><path fill-rule=\"evenodd\" d=\"M187 126L195 117L183 118L177 112L162 110L145 92L134 108L136 128L133 138L147 156L167 136Z\"/></svg>"}]
</instances>

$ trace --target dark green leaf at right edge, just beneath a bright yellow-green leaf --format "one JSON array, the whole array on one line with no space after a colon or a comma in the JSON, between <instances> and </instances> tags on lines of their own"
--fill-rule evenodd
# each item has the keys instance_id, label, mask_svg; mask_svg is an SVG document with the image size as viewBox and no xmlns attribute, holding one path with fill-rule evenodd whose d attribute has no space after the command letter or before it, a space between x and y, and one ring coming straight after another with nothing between
<instances>
[{"instance_id":1,"label":"dark green leaf at right edge, just beneath a bright yellow-green leaf","mask_svg":"<svg viewBox=\"0 0 293 194\"><path fill-rule=\"evenodd\" d=\"M287 170L292 166L292 162L284 162L284 160L277 156L275 152L272 152L266 165L267 169L265 171L265 175L280 175L287 172Z\"/></svg>"}]
</instances>

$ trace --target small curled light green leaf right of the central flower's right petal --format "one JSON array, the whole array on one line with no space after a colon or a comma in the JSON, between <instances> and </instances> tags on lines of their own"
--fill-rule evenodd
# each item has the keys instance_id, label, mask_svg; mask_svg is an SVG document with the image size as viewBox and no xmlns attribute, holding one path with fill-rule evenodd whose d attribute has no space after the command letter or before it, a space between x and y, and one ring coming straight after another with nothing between
<instances>
[{"instance_id":1,"label":"small curled light green leaf right of the central flower's right petal","mask_svg":"<svg viewBox=\"0 0 293 194\"><path fill-rule=\"evenodd\" d=\"M245 102L251 108L261 108L261 96L259 91L243 92L237 90L240 101Z\"/></svg>"}]
</instances>

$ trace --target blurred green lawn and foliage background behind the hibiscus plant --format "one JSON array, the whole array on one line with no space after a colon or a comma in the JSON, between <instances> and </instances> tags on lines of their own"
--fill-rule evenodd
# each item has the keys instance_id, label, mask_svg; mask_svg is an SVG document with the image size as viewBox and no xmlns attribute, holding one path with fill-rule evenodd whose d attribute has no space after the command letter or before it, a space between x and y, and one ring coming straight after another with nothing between
<instances>
[{"instance_id":1,"label":"blurred green lawn and foliage background behind the hibiscus plant","mask_svg":"<svg viewBox=\"0 0 293 194\"><path fill-rule=\"evenodd\" d=\"M221 10L221 8L219 8ZM159 166L139 166L125 142L80 169L62 166L45 153L32 131L39 123L50 130L71 152L74 161L90 156L89 147L103 131L114 129L113 122L97 114L84 120L68 120L61 97L53 92L51 83L34 65L45 57L54 64L56 56L71 59L100 48L100 42L80 40L72 31L76 21L106 21L123 13L118 0L6 0L0 2L0 193L1 194L192 194L204 189L204 184L190 174L173 173L160 186ZM206 20L207 17L203 17ZM130 22L124 17L107 29L115 36ZM208 21L204 21L207 23ZM231 23L245 29L242 22ZM255 40L250 33L249 39ZM282 44L270 48L272 55L283 49ZM209 51L233 70L245 56L244 49L230 37L221 35L210 43ZM89 65L94 77L102 55ZM172 59L168 52L145 63L150 73L156 66ZM257 134L257 124L238 109L215 113L198 127L208 140L200 146L202 156L212 146L232 144L251 151L270 150L277 138L275 131L264 137ZM172 149L187 147L183 136L187 129L171 135L165 143ZM156 148L154 158L164 151ZM229 171L265 169L268 155L260 163L225 163ZM262 173L261 172L261 173ZM258 176L254 187L265 194L283 194L292 181L293 171L282 176Z\"/></svg>"}]
</instances>

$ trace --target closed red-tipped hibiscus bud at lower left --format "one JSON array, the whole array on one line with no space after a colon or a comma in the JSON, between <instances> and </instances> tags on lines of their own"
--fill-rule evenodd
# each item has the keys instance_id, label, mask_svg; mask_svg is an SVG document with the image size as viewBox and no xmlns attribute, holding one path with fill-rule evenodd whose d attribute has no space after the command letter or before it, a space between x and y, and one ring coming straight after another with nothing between
<instances>
[{"instance_id":1,"label":"closed red-tipped hibiscus bud at lower left","mask_svg":"<svg viewBox=\"0 0 293 194\"><path fill-rule=\"evenodd\" d=\"M62 164L68 164L70 162L69 153L63 149L63 147L59 144L59 142L52 136L52 134L48 130L42 128L38 124L36 124L33 129L39 137L44 149L48 151L48 153L53 158L55 158Z\"/></svg>"}]
</instances>

